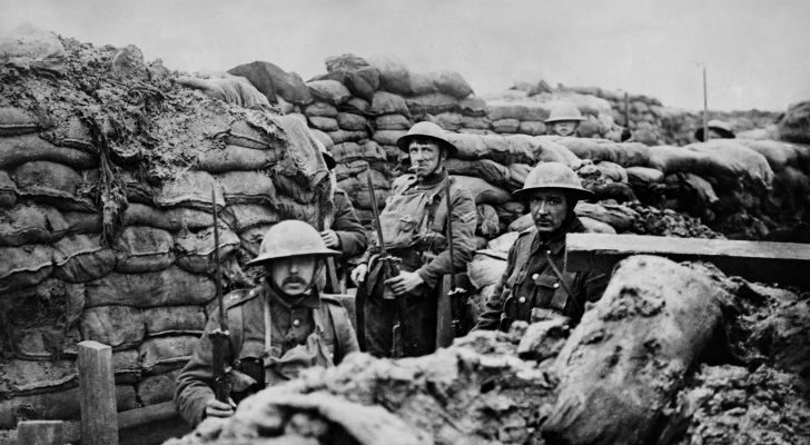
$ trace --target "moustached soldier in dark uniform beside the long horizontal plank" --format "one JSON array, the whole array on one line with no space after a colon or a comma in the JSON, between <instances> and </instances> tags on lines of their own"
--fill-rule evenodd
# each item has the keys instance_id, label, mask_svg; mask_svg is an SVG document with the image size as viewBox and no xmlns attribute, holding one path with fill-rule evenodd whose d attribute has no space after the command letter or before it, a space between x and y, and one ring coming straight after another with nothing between
<instances>
[{"instance_id":1,"label":"moustached soldier in dark uniform beside the long horizontal plank","mask_svg":"<svg viewBox=\"0 0 810 445\"><path fill-rule=\"evenodd\" d=\"M559 315L577 323L585 301L602 296L604 274L564 271L565 234L584 231L574 215L576 201L593 194L576 174L560 162L535 167L522 189L534 227L520 234L507 257L506 270L486 303L476 329L507 330L515 320L536 322Z\"/></svg>"}]
</instances>

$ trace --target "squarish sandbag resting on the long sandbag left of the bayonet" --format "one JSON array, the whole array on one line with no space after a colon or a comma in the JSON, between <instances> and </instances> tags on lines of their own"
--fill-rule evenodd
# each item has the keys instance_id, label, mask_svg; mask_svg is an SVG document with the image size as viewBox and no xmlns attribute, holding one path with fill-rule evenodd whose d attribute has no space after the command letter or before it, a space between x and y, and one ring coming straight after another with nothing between
<instances>
[{"instance_id":1,"label":"squarish sandbag resting on the long sandbag left of the bayonet","mask_svg":"<svg viewBox=\"0 0 810 445\"><path fill-rule=\"evenodd\" d=\"M141 274L162 270L175 261L175 239L166 230L148 226L125 227L116 240L116 270Z\"/></svg>"}]
</instances>

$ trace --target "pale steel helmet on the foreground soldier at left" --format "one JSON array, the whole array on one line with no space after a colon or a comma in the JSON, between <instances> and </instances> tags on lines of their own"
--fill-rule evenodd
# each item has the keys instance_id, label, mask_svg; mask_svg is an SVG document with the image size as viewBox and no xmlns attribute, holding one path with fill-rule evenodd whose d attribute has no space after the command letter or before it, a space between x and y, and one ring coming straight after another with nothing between
<instances>
[{"instance_id":1,"label":"pale steel helmet on the foreground soldier at left","mask_svg":"<svg viewBox=\"0 0 810 445\"><path fill-rule=\"evenodd\" d=\"M303 255L328 256L340 255L340 253L327 248L320 234L313 226L304 221L287 219L267 230L261 246L259 246L259 255L248 261L246 266Z\"/></svg>"}]
</instances>

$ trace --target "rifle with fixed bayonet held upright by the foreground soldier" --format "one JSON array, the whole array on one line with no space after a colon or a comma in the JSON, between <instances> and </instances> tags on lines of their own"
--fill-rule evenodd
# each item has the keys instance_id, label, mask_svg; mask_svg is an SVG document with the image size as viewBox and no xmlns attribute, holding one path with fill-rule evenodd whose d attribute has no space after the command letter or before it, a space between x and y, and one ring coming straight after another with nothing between
<instances>
[{"instance_id":1,"label":"rifle with fixed bayonet held upright by the foreground soldier","mask_svg":"<svg viewBox=\"0 0 810 445\"><path fill-rule=\"evenodd\" d=\"M217 217L217 198L214 187L211 187L211 207L214 208L214 263L216 268L214 271L214 280L217 285L217 301L219 303L219 327L208 334L211 339L211 367L214 370L214 394L217 400L228 403L230 388L226 379L225 370L225 350L230 346L230 333L228 332L228 320L225 318L225 305L223 303L223 270L219 263L219 218Z\"/></svg>"}]
</instances>

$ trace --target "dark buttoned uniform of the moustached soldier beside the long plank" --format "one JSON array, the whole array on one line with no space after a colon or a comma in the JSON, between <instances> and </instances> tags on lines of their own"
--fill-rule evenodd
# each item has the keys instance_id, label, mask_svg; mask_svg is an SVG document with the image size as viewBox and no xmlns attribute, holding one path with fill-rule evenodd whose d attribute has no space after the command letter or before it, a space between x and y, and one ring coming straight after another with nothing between
<instances>
[{"instance_id":1,"label":"dark buttoned uniform of the moustached soldier beside the long plank","mask_svg":"<svg viewBox=\"0 0 810 445\"><path fill-rule=\"evenodd\" d=\"M506 270L490 295L486 310L475 328L507 330L515 320L531 323L545 318L543 313L547 310L579 322L585 301L597 300L608 284L604 274L564 271L565 234L582 231L584 227L575 216L547 239L543 239L535 227L522 231L510 249ZM567 294L546 255L573 295Z\"/></svg>"}]
</instances>

